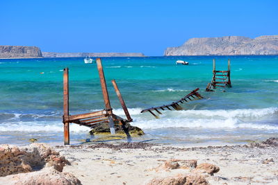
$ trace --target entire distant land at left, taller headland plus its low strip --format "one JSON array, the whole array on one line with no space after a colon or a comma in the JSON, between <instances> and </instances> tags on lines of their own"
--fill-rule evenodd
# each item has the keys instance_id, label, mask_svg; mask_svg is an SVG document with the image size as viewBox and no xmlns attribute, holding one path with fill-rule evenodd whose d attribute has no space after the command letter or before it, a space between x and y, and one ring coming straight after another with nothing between
<instances>
[{"instance_id":1,"label":"entire distant land at left, taller headland plus its low strip","mask_svg":"<svg viewBox=\"0 0 278 185\"><path fill-rule=\"evenodd\" d=\"M0 58L145 57L143 53L54 53L36 46L0 46Z\"/></svg>"}]
</instances>

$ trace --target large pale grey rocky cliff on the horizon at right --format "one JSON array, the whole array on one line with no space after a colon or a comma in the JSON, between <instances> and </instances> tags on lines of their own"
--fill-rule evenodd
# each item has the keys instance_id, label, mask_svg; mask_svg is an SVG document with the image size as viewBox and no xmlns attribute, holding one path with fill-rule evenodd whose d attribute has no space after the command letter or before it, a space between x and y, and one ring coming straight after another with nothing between
<instances>
[{"instance_id":1,"label":"large pale grey rocky cliff on the horizon at right","mask_svg":"<svg viewBox=\"0 0 278 185\"><path fill-rule=\"evenodd\" d=\"M278 55L278 35L193 38L167 48L164 55Z\"/></svg>"}]
</instances>

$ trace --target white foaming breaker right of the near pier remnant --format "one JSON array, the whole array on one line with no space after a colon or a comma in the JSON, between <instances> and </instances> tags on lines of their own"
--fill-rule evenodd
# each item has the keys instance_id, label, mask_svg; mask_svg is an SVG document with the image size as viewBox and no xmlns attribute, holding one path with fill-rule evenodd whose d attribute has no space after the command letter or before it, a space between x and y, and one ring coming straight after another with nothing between
<instances>
[{"instance_id":1,"label":"white foaming breaker right of the near pier remnant","mask_svg":"<svg viewBox=\"0 0 278 185\"><path fill-rule=\"evenodd\" d=\"M160 119L154 119L151 114L147 113L145 118L134 118L133 125L143 129L165 127L233 129L246 127L278 130L278 125L272 123L272 116L277 116L277 114L277 107L265 109L164 111L163 114L159 115Z\"/></svg>"}]
</instances>

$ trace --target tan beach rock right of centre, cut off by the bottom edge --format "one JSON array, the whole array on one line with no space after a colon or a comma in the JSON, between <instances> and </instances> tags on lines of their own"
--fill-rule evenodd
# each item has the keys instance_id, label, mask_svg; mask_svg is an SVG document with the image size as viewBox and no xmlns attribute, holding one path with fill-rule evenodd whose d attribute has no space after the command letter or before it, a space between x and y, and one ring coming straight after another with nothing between
<instances>
[{"instance_id":1,"label":"tan beach rock right of centre, cut off by the bottom edge","mask_svg":"<svg viewBox=\"0 0 278 185\"><path fill-rule=\"evenodd\" d=\"M208 182L202 175L190 174L190 175L177 175L174 177L158 177L152 179L147 185L206 185Z\"/></svg>"}]
</instances>

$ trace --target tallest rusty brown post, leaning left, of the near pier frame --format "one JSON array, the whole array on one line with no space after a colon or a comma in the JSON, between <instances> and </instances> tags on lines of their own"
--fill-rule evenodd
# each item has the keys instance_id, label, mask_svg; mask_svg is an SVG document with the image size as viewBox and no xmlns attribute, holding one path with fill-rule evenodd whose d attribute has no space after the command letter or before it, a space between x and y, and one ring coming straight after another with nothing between
<instances>
[{"instance_id":1,"label":"tallest rusty brown post, leaning left, of the near pier frame","mask_svg":"<svg viewBox=\"0 0 278 185\"><path fill-rule=\"evenodd\" d=\"M106 111L108 113L110 132L111 132L111 134L115 134L114 121L112 118L113 113L112 113L112 108L110 105L110 100L109 100L108 91L107 91L107 87L106 87L106 80L104 77L104 69L102 68L100 58L97 58L97 70L99 71L99 80L100 80L100 84L101 84L102 94L104 96L104 104L106 107Z\"/></svg>"}]
</instances>

